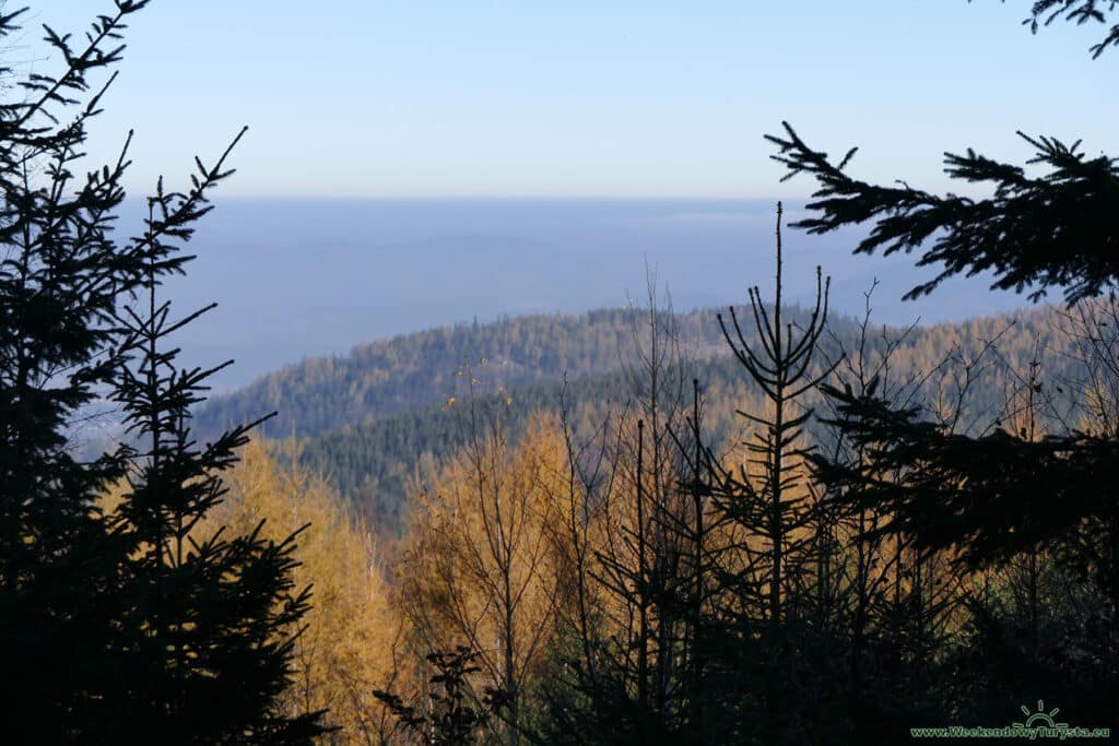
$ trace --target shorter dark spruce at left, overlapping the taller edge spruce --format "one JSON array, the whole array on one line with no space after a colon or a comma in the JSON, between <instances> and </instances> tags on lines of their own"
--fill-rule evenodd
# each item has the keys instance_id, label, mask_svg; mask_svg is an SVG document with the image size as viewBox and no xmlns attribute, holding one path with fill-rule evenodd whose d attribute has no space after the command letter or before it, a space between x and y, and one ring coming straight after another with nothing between
<instances>
[{"instance_id":1,"label":"shorter dark spruce at left, overlapping the taller edge spruce","mask_svg":"<svg viewBox=\"0 0 1119 746\"><path fill-rule=\"evenodd\" d=\"M109 740L304 743L323 730L322 712L289 717L276 703L309 610L310 588L297 588L293 578L303 529L280 542L261 537L263 521L246 536L197 531L227 491L220 472L265 418L213 443L194 440L190 409L206 379L229 362L181 368L178 348L166 340L216 304L175 319L171 304L158 301L159 277L179 258L175 239L190 237L190 224L209 209L206 191L232 173L223 171L229 150L211 168L199 162L190 192L164 193L160 185L149 199L143 294L139 309L126 305L121 314L138 352L119 370L115 399L135 445L126 448L129 490L110 530L128 548L121 623L130 640L122 658L138 665L119 692L124 708L106 718L124 730Z\"/></svg>"}]
</instances>

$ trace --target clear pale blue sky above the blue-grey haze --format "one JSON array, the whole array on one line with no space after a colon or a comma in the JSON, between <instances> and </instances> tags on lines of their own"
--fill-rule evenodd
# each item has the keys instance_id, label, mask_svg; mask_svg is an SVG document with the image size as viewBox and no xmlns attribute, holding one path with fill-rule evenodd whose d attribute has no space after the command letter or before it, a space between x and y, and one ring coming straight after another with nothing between
<instances>
[{"instance_id":1,"label":"clear pale blue sky above the blue-grey haze","mask_svg":"<svg viewBox=\"0 0 1119 746\"><path fill-rule=\"evenodd\" d=\"M38 3L17 56L54 65L37 23L110 4ZM783 119L928 188L944 150L1025 158L1017 129L1119 150L1119 50L1091 60L1097 27L1031 36L1028 6L153 0L90 150L135 128L142 191L248 124L223 195L322 198L803 196L762 140Z\"/></svg>"}]
</instances>

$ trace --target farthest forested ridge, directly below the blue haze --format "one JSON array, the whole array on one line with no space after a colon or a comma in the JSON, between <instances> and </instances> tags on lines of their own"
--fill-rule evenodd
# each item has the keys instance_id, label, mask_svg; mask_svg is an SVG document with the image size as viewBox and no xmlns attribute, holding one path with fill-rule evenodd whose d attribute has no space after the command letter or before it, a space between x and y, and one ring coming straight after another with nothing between
<instances>
[{"instance_id":1,"label":"farthest forested ridge, directly below the blue haze","mask_svg":"<svg viewBox=\"0 0 1119 746\"><path fill-rule=\"evenodd\" d=\"M791 311L794 319L807 313L797 308ZM461 394L459 374L468 367L482 381L483 391L513 391L562 379L573 383L609 375L632 362L633 327L640 313L632 308L583 315L515 317L369 342L346 356L309 358L242 389L213 397L197 408L195 426L208 433L239 422L250 413L279 409L278 417L267 425L271 436L294 433L314 437L345 425L369 424L397 413L442 405ZM731 355L716 313L716 309L708 309L677 314L681 343L697 360ZM1009 337L1003 347L1008 355L1017 356L1034 337L1043 347L1052 342L1057 317L1051 310L1022 311L963 324L923 324L906 336L908 347L928 348L918 357L929 363L940 360L956 341L991 340L1006 333ZM854 315L833 314L829 328L838 339L849 342L859 323ZM902 332L884 331L887 337Z\"/></svg>"}]
</instances>

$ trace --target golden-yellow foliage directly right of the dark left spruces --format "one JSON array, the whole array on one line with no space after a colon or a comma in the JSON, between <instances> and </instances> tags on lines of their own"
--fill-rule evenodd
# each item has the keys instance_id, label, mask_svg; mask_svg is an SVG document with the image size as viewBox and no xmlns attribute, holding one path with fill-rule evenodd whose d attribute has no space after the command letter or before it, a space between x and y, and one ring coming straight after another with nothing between
<instances>
[{"instance_id":1,"label":"golden-yellow foliage directly right of the dark left spruces","mask_svg":"<svg viewBox=\"0 0 1119 746\"><path fill-rule=\"evenodd\" d=\"M263 520L263 533L279 539L308 527L299 536L295 583L311 585L313 607L295 646L288 707L329 708L328 723L340 728L328 736L335 743L380 743L383 714L372 692L392 668L397 625L370 533L322 479L281 465L255 441L241 455L225 478L225 501L197 530L244 533Z\"/></svg>"}]
</instances>

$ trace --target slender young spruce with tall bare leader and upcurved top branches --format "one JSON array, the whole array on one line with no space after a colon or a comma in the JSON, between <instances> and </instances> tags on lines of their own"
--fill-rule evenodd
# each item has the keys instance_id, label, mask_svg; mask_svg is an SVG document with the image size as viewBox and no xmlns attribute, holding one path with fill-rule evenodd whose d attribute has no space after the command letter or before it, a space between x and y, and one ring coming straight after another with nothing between
<instances>
[{"instance_id":1,"label":"slender young spruce with tall bare leader and upcurved top branches","mask_svg":"<svg viewBox=\"0 0 1119 746\"><path fill-rule=\"evenodd\" d=\"M736 555L723 570L724 596L717 610L722 626L722 667L734 687L737 737L791 743L809 715L798 678L809 652L800 635L805 602L811 595L812 504L805 460L812 447L803 427L811 417L805 396L830 374L820 365L820 337L828 315L828 287L816 271L816 304L803 323L793 324L782 305L784 291L781 219L777 210L774 299L770 309L758 286L750 289L753 333L743 329L732 306L718 314L727 346L764 408L739 410L751 425L740 463L730 469L706 459L711 500L717 520L730 527ZM822 672L817 671L816 676ZM737 679L737 680L735 680ZM723 695L726 697L726 695ZM734 701L737 699L737 701Z\"/></svg>"}]
</instances>

